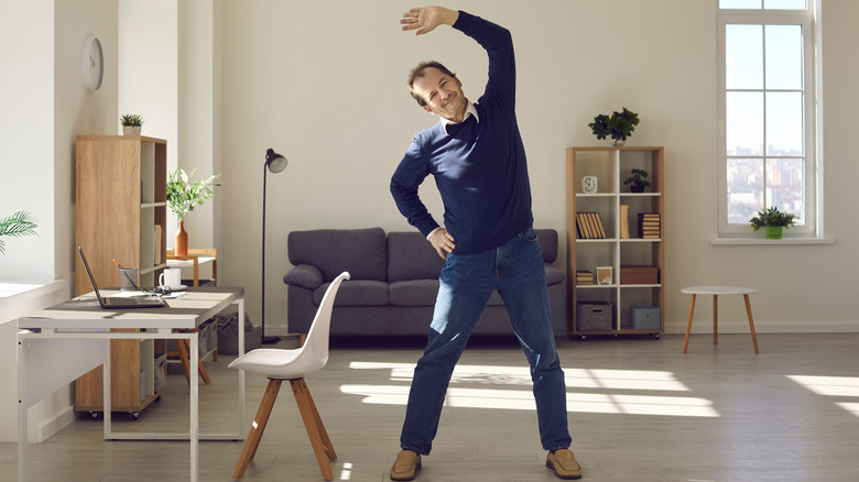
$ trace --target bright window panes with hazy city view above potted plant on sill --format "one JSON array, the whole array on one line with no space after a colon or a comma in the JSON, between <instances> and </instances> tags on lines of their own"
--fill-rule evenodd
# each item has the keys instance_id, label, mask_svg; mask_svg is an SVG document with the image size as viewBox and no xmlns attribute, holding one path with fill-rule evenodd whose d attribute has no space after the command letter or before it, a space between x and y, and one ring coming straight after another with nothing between
<instances>
[{"instance_id":1,"label":"bright window panes with hazy city view above potted plant on sill","mask_svg":"<svg viewBox=\"0 0 859 482\"><path fill-rule=\"evenodd\" d=\"M728 24L725 42L728 223L774 206L803 226L802 25Z\"/></svg>"}]
</instances>

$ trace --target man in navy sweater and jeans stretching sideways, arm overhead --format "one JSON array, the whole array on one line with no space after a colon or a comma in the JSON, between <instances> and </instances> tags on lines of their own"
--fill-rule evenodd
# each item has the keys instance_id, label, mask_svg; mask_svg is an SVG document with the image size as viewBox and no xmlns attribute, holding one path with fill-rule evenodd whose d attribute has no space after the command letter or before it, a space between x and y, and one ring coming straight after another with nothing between
<instances>
[{"instance_id":1,"label":"man in navy sweater and jeans stretching sideways, arm overhead","mask_svg":"<svg viewBox=\"0 0 859 482\"><path fill-rule=\"evenodd\" d=\"M456 362L493 289L504 300L513 330L531 364L540 437L546 465L562 479L581 470L568 450L566 386L548 305L543 255L532 228L525 151L515 119L515 62L505 29L441 7L412 9L404 31L450 25L477 41L489 56L489 81L477 103L463 83L436 62L412 70L409 89L441 121L418 132L391 178L400 211L445 259L424 355L415 368L402 451L391 480L412 480L432 449ZM439 227L417 196L435 177L445 207Z\"/></svg>"}]
</instances>

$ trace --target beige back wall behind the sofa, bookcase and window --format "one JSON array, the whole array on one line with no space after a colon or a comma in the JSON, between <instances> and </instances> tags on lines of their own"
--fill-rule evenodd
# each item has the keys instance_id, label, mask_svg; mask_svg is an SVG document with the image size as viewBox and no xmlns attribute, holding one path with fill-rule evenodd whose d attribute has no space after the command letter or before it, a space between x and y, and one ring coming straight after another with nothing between
<instances>
[{"instance_id":1,"label":"beige back wall behind the sofa, bookcase and window","mask_svg":"<svg viewBox=\"0 0 859 482\"><path fill-rule=\"evenodd\" d=\"M824 0L826 235L834 245L713 247L716 237L716 2L688 0L464 0L454 8L513 33L518 112L529 153L536 224L565 242L565 147L599 145L587 123L628 107L640 113L630 145L665 146L668 331L685 328L694 284L760 289L762 332L857 330L852 293L857 228L849 193L857 177L849 129L859 85L859 6ZM401 1L254 1L224 4L222 284L243 285L259 324L261 164L265 149L290 158L269 177L267 327L286 322L286 234L315 228L412 229L388 185L413 134L434 122L407 96L418 61L437 58L477 98L486 56L449 29L400 31ZM852 109L851 109L852 107ZM432 180L422 195L441 219ZM790 263L784 263L790 260ZM726 300L726 330L742 304ZM736 306L735 306L736 305ZM700 304L706 316L709 308ZM705 322L698 326L704 326ZM705 326L704 329L707 329Z\"/></svg>"}]
</instances>

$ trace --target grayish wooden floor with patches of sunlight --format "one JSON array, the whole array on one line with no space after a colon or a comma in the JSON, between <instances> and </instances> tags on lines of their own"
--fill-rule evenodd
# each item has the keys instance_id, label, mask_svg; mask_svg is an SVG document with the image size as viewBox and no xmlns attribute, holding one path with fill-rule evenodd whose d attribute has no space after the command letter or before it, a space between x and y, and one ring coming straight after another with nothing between
<instances>
[{"instance_id":1,"label":"grayish wooden floor with patches of sunlight","mask_svg":"<svg viewBox=\"0 0 859 482\"><path fill-rule=\"evenodd\" d=\"M587 481L859 480L859 333L559 339L573 447ZM281 347L291 348L294 340ZM339 460L335 480L385 481L399 450L420 340L335 342L328 365L307 379ZM202 429L231 428L232 357L207 362ZM553 481L540 447L524 357L510 340L472 340L448 393L435 448L418 481ZM168 392L127 429L178 431L187 386L171 366ZM265 379L248 375L247 423ZM220 424L220 425L218 425ZM246 427L247 429L247 427ZM200 442L202 482L229 481L242 442ZM14 481L14 443L0 443L0 481ZM101 423L79 418L30 446L33 481L188 480L187 442L104 441ZM289 390L281 392L246 481L322 481Z\"/></svg>"}]
</instances>

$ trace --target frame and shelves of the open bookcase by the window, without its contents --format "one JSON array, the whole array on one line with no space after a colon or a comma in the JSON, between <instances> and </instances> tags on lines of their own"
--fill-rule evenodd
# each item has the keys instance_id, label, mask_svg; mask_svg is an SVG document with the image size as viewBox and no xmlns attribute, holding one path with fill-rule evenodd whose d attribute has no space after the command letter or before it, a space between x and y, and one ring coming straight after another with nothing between
<instances>
[{"instance_id":1,"label":"frame and shelves of the open bookcase by the window, without its contents","mask_svg":"<svg viewBox=\"0 0 859 482\"><path fill-rule=\"evenodd\" d=\"M664 182L663 147L567 147L567 280L570 331L583 339L588 335L650 333L660 337L664 329ZM631 193L623 179L633 168L649 173L651 186L644 193ZM598 190L581 193L581 178L596 176ZM622 219L621 206L628 206ZM581 239L576 227L577 212L597 212L605 238ZM639 235L639 213L659 213L660 238ZM627 222L629 238L621 237L621 223ZM611 266L609 284L577 284L578 270L596 275L597 266ZM621 283L624 266L656 269L655 283ZM606 330L579 329L578 302L608 303L611 306L611 327ZM630 308L651 306L660 309L659 328L635 329Z\"/></svg>"}]
</instances>

